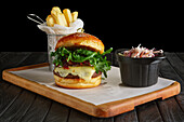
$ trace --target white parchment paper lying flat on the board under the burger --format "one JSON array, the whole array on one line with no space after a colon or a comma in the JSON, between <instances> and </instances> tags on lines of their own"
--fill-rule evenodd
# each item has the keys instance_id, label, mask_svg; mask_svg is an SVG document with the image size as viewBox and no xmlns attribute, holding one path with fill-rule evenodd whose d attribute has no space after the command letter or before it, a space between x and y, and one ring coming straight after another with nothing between
<instances>
[{"instance_id":1,"label":"white parchment paper lying flat on the board under the burger","mask_svg":"<svg viewBox=\"0 0 184 122\"><path fill-rule=\"evenodd\" d=\"M153 86L148 87L124 86L121 84L119 68L111 67L111 70L107 72L108 78L102 80L100 86L83 90L70 90L55 85L53 72L49 71L49 67L10 72L94 105L101 105L109 101L143 95L146 93L150 93L167 87L174 82L169 79L158 78L158 83Z\"/></svg>"}]
</instances>

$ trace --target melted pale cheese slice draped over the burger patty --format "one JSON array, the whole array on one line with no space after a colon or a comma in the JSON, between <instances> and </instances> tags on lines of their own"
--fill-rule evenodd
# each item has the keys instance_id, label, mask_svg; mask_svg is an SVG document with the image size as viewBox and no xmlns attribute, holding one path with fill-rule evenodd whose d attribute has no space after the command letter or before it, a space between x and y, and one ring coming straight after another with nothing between
<instances>
[{"instance_id":1,"label":"melted pale cheese slice draped over the burger patty","mask_svg":"<svg viewBox=\"0 0 184 122\"><path fill-rule=\"evenodd\" d=\"M69 73L71 73L73 76L78 76L79 78L88 81L91 80L91 77L95 72L95 69L94 67L91 66L79 66L79 67L69 66L68 69L64 69L63 67L56 67L54 71L58 72L61 77L66 77Z\"/></svg>"}]
</instances>

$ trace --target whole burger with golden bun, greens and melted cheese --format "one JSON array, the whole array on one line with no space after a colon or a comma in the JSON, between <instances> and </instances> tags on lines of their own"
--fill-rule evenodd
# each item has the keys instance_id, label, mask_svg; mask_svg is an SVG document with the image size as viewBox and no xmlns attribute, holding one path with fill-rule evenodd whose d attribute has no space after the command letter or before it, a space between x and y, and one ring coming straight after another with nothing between
<instances>
[{"instance_id":1,"label":"whole burger with golden bun, greens and melted cheese","mask_svg":"<svg viewBox=\"0 0 184 122\"><path fill-rule=\"evenodd\" d=\"M76 32L61 38L55 46L54 79L58 86L69 89L87 89L101 84L102 73L107 77L110 62L104 52L103 42L89 33Z\"/></svg>"}]
</instances>

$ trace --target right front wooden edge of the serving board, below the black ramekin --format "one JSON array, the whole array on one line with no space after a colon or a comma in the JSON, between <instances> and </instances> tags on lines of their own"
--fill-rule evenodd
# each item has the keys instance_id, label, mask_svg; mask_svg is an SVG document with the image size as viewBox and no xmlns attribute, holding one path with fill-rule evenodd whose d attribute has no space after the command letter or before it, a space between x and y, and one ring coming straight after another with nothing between
<instances>
[{"instance_id":1,"label":"right front wooden edge of the serving board, below the black ramekin","mask_svg":"<svg viewBox=\"0 0 184 122\"><path fill-rule=\"evenodd\" d=\"M161 99L169 98L171 96L180 94L180 91L181 91L180 83L175 81L171 85L165 89L152 92L152 93L98 105L97 106L100 109L98 117L109 118L109 117L114 117L114 116L117 116L117 114L120 114L127 111L131 111L134 109L135 106L142 105L142 104L145 104L147 101L152 101L158 98L161 98Z\"/></svg>"}]
</instances>

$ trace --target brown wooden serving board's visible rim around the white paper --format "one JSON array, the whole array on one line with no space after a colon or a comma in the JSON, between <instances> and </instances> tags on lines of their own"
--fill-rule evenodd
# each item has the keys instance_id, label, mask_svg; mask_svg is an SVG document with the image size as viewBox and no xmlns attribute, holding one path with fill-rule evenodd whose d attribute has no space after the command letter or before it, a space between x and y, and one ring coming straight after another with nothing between
<instances>
[{"instance_id":1,"label":"brown wooden serving board's visible rim around the white paper","mask_svg":"<svg viewBox=\"0 0 184 122\"><path fill-rule=\"evenodd\" d=\"M18 68L12 68L3 70L2 78L15 85L22 86L26 90L32 91L35 93L38 93L40 95L43 95L48 98L51 98L53 100L56 100L61 104L67 105L69 107L73 107L75 109L78 109L82 112L86 112L88 114L94 116L94 117L101 117L101 118L108 118L114 117L127 111L131 111L134 109L135 106L142 105L144 103L157 99L157 98L168 98L174 95L178 95L180 93L180 83L174 82L171 85L150 92L147 94L134 96L131 98L120 99L116 101L109 101L106 104L101 105L94 105L88 101L84 101L80 98L67 95L65 93L58 92L56 90L53 90L51 87L48 87L45 85L39 84L37 82L34 82L31 80L22 78L19 76L16 76L10 71L18 71L18 70L26 70L26 69L32 69L38 67L45 67L48 64L39 64L39 65L32 65L32 66L25 66L25 67L18 67Z\"/></svg>"}]
</instances>

